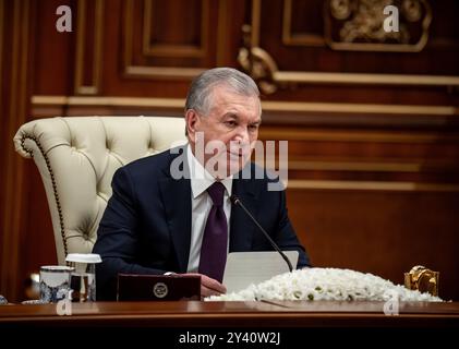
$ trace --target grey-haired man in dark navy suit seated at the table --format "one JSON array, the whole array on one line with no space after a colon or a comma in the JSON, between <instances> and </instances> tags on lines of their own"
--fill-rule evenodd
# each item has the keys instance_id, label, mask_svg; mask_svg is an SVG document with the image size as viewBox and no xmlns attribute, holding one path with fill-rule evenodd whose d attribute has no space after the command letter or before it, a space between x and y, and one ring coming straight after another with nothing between
<instances>
[{"instance_id":1,"label":"grey-haired man in dark navy suit seated at the table","mask_svg":"<svg viewBox=\"0 0 459 349\"><path fill-rule=\"evenodd\" d=\"M278 179L250 163L261 115L250 76L219 68L193 81L185 105L189 144L133 161L113 176L94 248L102 257L98 299L114 299L118 273L200 274L203 297L224 293L228 252L273 250L231 205L231 195L281 250L299 251L297 267L310 264L288 218L285 191L269 190Z\"/></svg>"}]
</instances>

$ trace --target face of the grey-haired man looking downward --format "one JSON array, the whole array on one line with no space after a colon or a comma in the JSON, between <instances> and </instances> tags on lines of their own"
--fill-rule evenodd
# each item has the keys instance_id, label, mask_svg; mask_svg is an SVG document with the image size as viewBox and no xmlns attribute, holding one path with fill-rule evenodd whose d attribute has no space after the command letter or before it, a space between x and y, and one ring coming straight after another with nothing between
<instances>
[{"instance_id":1,"label":"face of the grey-haired man looking downward","mask_svg":"<svg viewBox=\"0 0 459 349\"><path fill-rule=\"evenodd\" d=\"M215 177L226 177L242 169L250 160L262 121L259 99L235 94L226 86L213 89L207 115L186 112L186 128L193 154ZM204 155L200 158L200 152ZM203 140L204 139L204 140ZM226 164L226 167L216 164ZM221 172L224 170L224 172Z\"/></svg>"}]
</instances>

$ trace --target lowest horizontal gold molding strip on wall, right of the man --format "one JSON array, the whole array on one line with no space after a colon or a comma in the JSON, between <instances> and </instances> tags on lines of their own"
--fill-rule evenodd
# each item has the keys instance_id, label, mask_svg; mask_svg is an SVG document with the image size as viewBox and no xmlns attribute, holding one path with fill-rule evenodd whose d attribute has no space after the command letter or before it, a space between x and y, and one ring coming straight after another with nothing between
<instances>
[{"instance_id":1,"label":"lowest horizontal gold molding strip on wall, right of the man","mask_svg":"<svg viewBox=\"0 0 459 349\"><path fill-rule=\"evenodd\" d=\"M383 181L327 181L291 179L288 190L353 190L396 192L459 192L458 184L383 182Z\"/></svg>"}]
</instances>

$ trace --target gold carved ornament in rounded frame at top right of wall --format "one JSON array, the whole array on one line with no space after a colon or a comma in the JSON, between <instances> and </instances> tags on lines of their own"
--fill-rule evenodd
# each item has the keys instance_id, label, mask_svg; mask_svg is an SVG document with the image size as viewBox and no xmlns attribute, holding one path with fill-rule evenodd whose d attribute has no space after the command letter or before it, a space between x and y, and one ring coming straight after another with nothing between
<instances>
[{"instance_id":1,"label":"gold carved ornament in rounded frame at top right of wall","mask_svg":"<svg viewBox=\"0 0 459 349\"><path fill-rule=\"evenodd\" d=\"M399 9L399 31L385 32L384 8ZM336 50L419 52L427 44L432 10L426 0L327 0L325 40ZM412 39L409 26L421 35Z\"/></svg>"}]
</instances>

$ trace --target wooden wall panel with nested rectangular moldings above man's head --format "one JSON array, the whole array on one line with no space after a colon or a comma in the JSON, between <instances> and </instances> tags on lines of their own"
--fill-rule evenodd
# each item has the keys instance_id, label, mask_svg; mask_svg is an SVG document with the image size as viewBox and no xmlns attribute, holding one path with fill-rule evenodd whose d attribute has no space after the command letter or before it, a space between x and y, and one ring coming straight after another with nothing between
<instances>
[{"instance_id":1,"label":"wooden wall panel with nested rectangular moldings above man's head","mask_svg":"<svg viewBox=\"0 0 459 349\"><path fill-rule=\"evenodd\" d=\"M181 9L179 14L176 8ZM234 35L240 35L243 23L241 1L106 1L105 13L106 96L183 98L191 79L203 69L237 64L240 40ZM191 19L193 13L203 21ZM155 19L160 19L159 24ZM158 28L161 23L167 27ZM186 38L188 33L200 37ZM186 46L193 40L195 48L202 47L198 56L190 50L193 45Z\"/></svg>"}]
</instances>

